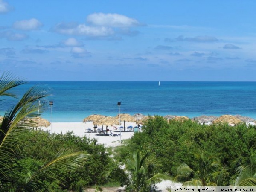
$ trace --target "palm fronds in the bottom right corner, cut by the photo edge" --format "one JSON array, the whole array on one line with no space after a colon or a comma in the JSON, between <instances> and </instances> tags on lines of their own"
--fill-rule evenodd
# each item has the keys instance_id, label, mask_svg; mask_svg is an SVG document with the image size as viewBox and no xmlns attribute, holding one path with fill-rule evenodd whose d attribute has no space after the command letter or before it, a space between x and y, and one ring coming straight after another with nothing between
<instances>
[{"instance_id":1,"label":"palm fronds in the bottom right corner, cut by the photo edge","mask_svg":"<svg viewBox=\"0 0 256 192\"><path fill-rule=\"evenodd\" d=\"M246 166L240 165L237 172L235 186L256 186L256 154L251 153L250 162Z\"/></svg>"}]
</instances>

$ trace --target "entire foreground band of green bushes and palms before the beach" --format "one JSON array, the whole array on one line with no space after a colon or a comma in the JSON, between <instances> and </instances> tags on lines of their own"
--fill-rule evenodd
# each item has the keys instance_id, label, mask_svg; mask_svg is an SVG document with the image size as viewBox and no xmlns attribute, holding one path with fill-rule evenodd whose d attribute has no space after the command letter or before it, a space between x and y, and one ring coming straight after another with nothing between
<instances>
[{"instance_id":1,"label":"entire foreground band of green bushes and palms before the beach","mask_svg":"<svg viewBox=\"0 0 256 192\"><path fill-rule=\"evenodd\" d=\"M1 76L0 102L15 97L11 90L23 83L8 73ZM101 191L99 185L119 182L127 192L148 192L166 173L186 186L256 186L256 126L155 116L113 152L72 132L32 130L35 122L28 118L38 115L39 99L40 113L44 110L45 97L44 90L32 87L0 122L0 191L82 191L85 186Z\"/></svg>"}]
</instances>

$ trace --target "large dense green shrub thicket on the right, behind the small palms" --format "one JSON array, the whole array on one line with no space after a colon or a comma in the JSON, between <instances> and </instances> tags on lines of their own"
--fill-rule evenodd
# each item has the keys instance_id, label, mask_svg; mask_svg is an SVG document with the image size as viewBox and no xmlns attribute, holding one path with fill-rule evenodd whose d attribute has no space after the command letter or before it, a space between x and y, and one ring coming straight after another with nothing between
<instances>
[{"instance_id":1,"label":"large dense green shrub thicket on the right, behind the small palms","mask_svg":"<svg viewBox=\"0 0 256 192\"><path fill-rule=\"evenodd\" d=\"M143 132L134 134L127 145L116 149L116 158L123 161L130 157L134 150L142 154L151 153L150 160L157 165L157 170L169 172L176 177L182 173L181 166L184 169L186 165L186 168L191 170L189 175L186 175L187 178L183 177L181 181L192 181L193 177L196 179L195 173L203 170L202 162L198 163L198 159L204 153L204 160L209 158L209 165L213 163L214 166L204 173L208 178L205 181L201 179L203 185L210 182L221 183L218 178L211 176L213 173L222 174L222 181L225 180L222 184L234 185L234 180L241 174L237 171L238 167L251 162L251 157L255 157L255 149L255 126L208 126L199 125L191 120L167 122L163 117L156 116L148 120Z\"/></svg>"}]
</instances>

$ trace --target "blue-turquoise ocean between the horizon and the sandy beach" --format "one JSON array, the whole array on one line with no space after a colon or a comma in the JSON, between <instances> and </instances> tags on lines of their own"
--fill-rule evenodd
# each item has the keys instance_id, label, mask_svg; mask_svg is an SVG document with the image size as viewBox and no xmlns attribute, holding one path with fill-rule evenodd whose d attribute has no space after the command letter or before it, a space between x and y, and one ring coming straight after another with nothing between
<instances>
[{"instance_id":1,"label":"blue-turquoise ocean between the horizon and the sandy beach","mask_svg":"<svg viewBox=\"0 0 256 192\"><path fill-rule=\"evenodd\" d=\"M34 85L51 95L52 122L82 122L91 114L116 116L119 101L120 113L131 115L239 114L256 119L256 82L162 81L159 86L156 81L29 81L15 91L21 96ZM13 100L4 102L8 107ZM50 119L50 106L42 117Z\"/></svg>"}]
</instances>

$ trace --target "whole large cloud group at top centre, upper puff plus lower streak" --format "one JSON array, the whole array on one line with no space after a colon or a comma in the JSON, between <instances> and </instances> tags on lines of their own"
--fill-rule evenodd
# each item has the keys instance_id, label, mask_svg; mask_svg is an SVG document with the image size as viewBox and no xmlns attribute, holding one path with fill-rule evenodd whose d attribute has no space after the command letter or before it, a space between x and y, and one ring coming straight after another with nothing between
<instances>
[{"instance_id":1,"label":"whole large cloud group at top centre, upper puff plus lower streak","mask_svg":"<svg viewBox=\"0 0 256 192\"><path fill-rule=\"evenodd\" d=\"M94 13L87 16L87 23L58 23L52 31L65 35L83 35L90 38L120 39L116 34L134 36L139 32L131 31L129 27L141 26L132 18L119 14ZM119 29L116 29L119 28Z\"/></svg>"}]
</instances>

